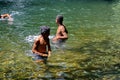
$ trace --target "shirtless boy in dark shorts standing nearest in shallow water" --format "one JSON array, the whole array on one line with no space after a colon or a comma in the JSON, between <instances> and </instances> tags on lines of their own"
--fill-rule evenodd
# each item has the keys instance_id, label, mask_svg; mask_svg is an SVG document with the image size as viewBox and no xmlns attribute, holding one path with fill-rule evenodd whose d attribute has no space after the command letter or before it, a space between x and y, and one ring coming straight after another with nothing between
<instances>
[{"instance_id":1,"label":"shirtless boy in dark shorts standing nearest in shallow water","mask_svg":"<svg viewBox=\"0 0 120 80\"><path fill-rule=\"evenodd\" d=\"M47 58L51 55L50 28L42 26L40 31L41 35L35 39L32 52L35 54L35 62L44 62L46 64Z\"/></svg>"}]
</instances>

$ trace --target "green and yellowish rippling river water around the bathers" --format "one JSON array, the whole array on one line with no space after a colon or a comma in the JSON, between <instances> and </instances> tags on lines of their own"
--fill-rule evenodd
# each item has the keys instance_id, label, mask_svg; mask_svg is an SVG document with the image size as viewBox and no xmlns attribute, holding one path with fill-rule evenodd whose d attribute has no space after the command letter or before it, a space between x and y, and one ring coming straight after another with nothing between
<instances>
[{"instance_id":1,"label":"green and yellowish rippling river water around the bathers","mask_svg":"<svg viewBox=\"0 0 120 80\"><path fill-rule=\"evenodd\" d=\"M119 0L0 0L1 80L119 80ZM48 65L32 60L39 27L55 35L57 15L64 16L69 39L64 49L52 47Z\"/></svg>"}]
</instances>

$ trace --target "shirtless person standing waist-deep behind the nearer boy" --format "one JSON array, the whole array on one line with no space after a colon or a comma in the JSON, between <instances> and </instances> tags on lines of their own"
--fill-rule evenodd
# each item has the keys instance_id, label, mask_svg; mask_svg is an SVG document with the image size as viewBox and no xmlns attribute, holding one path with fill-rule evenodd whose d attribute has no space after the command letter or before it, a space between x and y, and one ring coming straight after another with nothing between
<instances>
[{"instance_id":1,"label":"shirtless person standing waist-deep behind the nearer boy","mask_svg":"<svg viewBox=\"0 0 120 80\"><path fill-rule=\"evenodd\" d=\"M52 43L55 43L57 46L60 47L68 39L68 31L63 24L62 15L58 15L56 17L56 23L58 25L58 28L55 37L52 39Z\"/></svg>"}]
</instances>

